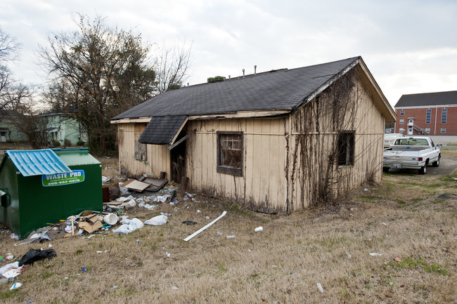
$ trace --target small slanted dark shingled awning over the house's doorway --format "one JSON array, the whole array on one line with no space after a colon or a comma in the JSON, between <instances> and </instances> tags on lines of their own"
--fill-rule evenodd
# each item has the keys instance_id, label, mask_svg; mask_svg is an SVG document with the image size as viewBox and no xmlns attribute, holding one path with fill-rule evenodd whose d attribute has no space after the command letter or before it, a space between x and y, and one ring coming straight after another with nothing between
<instances>
[{"instance_id":1,"label":"small slanted dark shingled awning over the house's doorway","mask_svg":"<svg viewBox=\"0 0 457 304\"><path fill-rule=\"evenodd\" d=\"M186 120L186 115L153 117L138 141L155 145L169 145L184 120Z\"/></svg>"}]
</instances>

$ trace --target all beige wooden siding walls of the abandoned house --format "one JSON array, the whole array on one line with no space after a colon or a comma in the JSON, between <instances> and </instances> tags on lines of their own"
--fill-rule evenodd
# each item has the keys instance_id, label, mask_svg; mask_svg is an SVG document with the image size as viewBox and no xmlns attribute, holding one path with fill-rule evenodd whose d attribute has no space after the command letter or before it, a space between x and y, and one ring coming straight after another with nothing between
<instances>
[{"instance_id":1,"label":"all beige wooden siding walls of the abandoned house","mask_svg":"<svg viewBox=\"0 0 457 304\"><path fill-rule=\"evenodd\" d=\"M328 89L285 118L190 120L186 131L188 186L264 212L291 212L333 198L382 176L385 119L359 81L349 101L335 105ZM170 152L148 145L147 161L136 160L135 140L146 124L119 124L123 173L170 176ZM243 176L217 172L217 131L243 132ZM355 131L354 166L331 163L338 131Z\"/></svg>"}]
</instances>

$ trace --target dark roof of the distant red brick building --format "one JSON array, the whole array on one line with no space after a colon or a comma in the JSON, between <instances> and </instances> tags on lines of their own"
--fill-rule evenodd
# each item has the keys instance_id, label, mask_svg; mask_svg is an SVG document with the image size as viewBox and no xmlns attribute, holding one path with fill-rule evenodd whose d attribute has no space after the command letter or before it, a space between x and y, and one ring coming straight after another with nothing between
<instances>
[{"instance_id":1,"label":"dark roof of the distant red brick building","mask_svg":"<svg viewBox=\"0 0 457 304\"><path fill-rule=\"evenodd\" d=\"M457 105L457 91L402 95L395 107Z\"/></svg>"}]
</instances>

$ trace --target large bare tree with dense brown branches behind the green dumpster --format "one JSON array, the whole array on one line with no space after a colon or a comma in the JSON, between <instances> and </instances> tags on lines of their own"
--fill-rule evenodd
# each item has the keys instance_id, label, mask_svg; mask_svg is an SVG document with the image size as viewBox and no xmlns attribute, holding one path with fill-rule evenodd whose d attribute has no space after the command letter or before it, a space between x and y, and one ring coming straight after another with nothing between
<instances>
[{"instance_id":1,"label":"large bare tree with dense brown branches behind the green dumpster","mask_svg":"<svg viewBox=\"0 0 457 304\"><path fill-rule=\"evenodd\" d=\"M78 15L75 32L50 34L39 58L51 77L49 102L71 110L100 154L115 143L110 118L152 97L155 72L141 34ZM115 148L112 145L112 148Z\"/></svg>"}]
</instances>

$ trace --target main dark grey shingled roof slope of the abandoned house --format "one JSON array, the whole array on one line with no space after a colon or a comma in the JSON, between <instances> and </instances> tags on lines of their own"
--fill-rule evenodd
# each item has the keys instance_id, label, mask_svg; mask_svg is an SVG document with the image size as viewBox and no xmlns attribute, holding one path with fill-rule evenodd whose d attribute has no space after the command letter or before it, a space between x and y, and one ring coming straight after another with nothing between
<instances>
[{"instance_id":1,"label":"main dark grey shingled roof slope of the abandoned house","mask_svg":"<svg viewBox=\"0 0 457 304\"><path fill-rule=\"evenodd\" d=\"M112 119L293 110L359 57L167 91Z\"/></svg>"}]
</instances>

